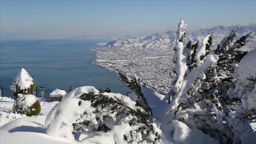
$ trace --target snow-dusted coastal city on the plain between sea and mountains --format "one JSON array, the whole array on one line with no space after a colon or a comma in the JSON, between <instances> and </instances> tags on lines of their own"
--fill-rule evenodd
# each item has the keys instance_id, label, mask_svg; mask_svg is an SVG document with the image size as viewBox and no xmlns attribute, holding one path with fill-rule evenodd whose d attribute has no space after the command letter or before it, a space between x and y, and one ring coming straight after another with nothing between
<instances>
[{"instance_id":1,"label":"snow-dusted coastal city on the plain between sea and mountains","mask_svg":"<svg viewBox=\"0 0 256 144\"><path fill-rule=\"evenodd\" d=\"M172 72L172 49L132 50L98 47L92 50L96 52L97 57L94 64L121 72L128 77L137 75L144 85L162 95L171 88L172 75L175 75Z\"/></svg>"}]
</instances>

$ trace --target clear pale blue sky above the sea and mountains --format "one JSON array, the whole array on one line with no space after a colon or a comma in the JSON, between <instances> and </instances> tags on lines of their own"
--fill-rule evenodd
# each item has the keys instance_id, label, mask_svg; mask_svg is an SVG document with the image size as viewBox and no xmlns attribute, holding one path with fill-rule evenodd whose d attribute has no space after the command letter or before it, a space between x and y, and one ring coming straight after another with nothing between
<instances>
[{"instance_id":1,"label":"clear pale blue sky above the sea and mountains","mask_svg":"<svg viewBox=\"0 0 256 144\"><path fill-rule=\"evenodd\" d=\"M256 24L255 0L0 0L0 32L35 37L150 35ZM4 37L4 35L2 35Z\"/></svg>"}]
</instances>

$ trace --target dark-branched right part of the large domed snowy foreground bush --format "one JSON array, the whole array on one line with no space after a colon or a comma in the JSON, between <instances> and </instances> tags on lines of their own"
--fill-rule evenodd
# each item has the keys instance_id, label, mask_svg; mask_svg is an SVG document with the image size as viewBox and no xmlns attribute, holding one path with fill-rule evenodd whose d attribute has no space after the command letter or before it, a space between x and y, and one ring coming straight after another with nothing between
<instances>
[{"instance_id":1,"label":"dark-branched right part of the large domed snowy foreground bush","mask_svg":"<svg viewBox=\"0 0 256 144\"><path fill-rule=\"evenodd\" d=\"M155 119L127 96L88 93L80 96L80 99L91 101L94 110L85 110L78 123L74 124L77 131L118 133L114 139L118 144L135 144L144 140L152 143L160 138L161 131Z\"/></svg>"}]
</instances>

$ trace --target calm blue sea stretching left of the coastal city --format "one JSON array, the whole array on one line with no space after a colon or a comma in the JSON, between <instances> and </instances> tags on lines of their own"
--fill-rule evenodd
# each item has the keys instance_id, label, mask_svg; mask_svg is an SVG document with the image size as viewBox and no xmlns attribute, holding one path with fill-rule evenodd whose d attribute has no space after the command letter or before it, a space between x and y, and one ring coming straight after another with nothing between
<instances>
[{"instance_id":1,"label":"calm blue sea stretching left of the coastal city","mask_svg":"<svg viewBox=\"0 0 256 144\"><path fill-rule=\"evenodd\" d=\"M0 40L0 85L8 88L21 68L46 90L91 85L126 94L131 90L106 69L91 64L90 48L106 40Z\"/></svg>"}]
</instances>

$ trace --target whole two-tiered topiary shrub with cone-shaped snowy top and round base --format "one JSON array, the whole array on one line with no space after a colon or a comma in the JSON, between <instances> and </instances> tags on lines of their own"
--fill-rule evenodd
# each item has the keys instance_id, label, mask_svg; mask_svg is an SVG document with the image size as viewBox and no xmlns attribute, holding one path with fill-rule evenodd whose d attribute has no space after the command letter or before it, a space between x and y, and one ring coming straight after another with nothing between
<instances>
[{"instance_id":1,"label":"whole two-tiered topiary shrub with cone-shaped snowy top and round base","mask_svg":"<svg viewBox=\"0 0 256 144\"><path fill-rule=\"evenodd\" d=\"M13 103L13 110L27 116L37 115L41 111L37 97L29 94L35 89L36 84L25 69L21 69L12 85L16 85L16 90L12 90L16 95Z\"/></svg>"}]
</instances>

